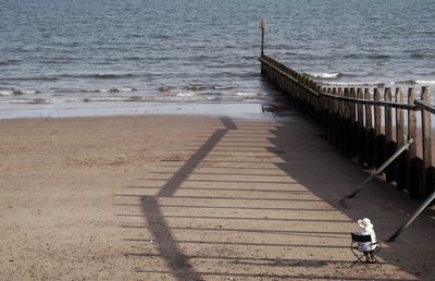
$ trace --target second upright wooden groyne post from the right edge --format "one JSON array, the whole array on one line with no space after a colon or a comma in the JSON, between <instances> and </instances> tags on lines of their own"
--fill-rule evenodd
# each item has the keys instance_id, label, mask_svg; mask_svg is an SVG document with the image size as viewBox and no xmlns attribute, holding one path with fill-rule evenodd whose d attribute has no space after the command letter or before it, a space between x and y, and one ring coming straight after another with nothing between
<instances>
[{"instance_id":1,"label":"second upright wooden groyne post from the right edge","mask_svg":"<svg viewBox=\"0 0 435 281\"><path fill-rule=\"evenodd\" d=\"M408 103L414 105L415 101L415 90L413 88L408 89ZM414 142L409 147L409 160L408 160L408 170L410 171L408 181L408 191L411 195L411 198L419 197L419 188L418 188L418 176L419 172L415 171L415 160L417 160L417 119L415 111L408 110L408 138L413 138Z\"/></svg>"}]
</instances>

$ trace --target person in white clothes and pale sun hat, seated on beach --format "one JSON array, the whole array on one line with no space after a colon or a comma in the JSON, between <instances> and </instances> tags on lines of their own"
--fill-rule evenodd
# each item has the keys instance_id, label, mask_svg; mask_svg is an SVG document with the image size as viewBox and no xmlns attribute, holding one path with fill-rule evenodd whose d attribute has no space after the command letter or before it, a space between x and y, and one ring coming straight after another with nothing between
<instances>
[{"instance_id":1,"label":"person in white clothes and pale sun hat, seated on beach","mask_svg":"<svg viewBox=\"0 0 435 281\"><path fill-rule=\"evenodd\" d=\"M364 253L366 262L375 262L376 260L374 255L378 252L381 245L380 242L376 241L376 234L374 233L373 224L368 218L358 220L357 223L360 229L353 232L353 234L360 236L371 236L371 241L358 242L358 251Z\"/></svg>"}]
</instances>

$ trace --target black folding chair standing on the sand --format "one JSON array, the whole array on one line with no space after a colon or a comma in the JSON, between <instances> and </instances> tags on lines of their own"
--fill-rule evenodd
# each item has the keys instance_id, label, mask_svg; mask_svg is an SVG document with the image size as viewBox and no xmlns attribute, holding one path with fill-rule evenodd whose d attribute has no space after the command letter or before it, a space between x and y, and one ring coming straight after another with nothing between
<instances>
[{"instance_id":1,"label":"black folding chair standing on the sand","mask_svg":"<svg viewBox=\"0 0 435 281\"><path fill-rule=\"evenodd\" d=\"M377 260L377 258L376 258L376 254L381 251L381 242L378 242L378 241L372 242L371 235L358 235L355 233L350 233L350 234L352 237L352 242L350 244L350 251L357 257L357 260L350 267L355 266L357 262L363 264L366 268L369 268L366 264L377 264L377 265L382 266L380 260ZM371 248L373 248L373 246L375 246L375 247L372 251L360 251L358 248L358 243L370 243L369 245ZM362 258L365 256L369 257L368 261L362 260Z\"/></svg>"}]
</instances>

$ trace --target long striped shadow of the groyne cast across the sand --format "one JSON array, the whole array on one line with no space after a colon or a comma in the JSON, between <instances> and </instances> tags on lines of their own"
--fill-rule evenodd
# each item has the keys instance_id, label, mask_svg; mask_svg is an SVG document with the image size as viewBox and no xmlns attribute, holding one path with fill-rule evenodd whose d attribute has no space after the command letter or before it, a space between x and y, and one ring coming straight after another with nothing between
<instances>
[{"instance_id":1,"label":"long striped shadow of the groyne cast across the sand","mask_svg":"<svg viewBox=\"0 0 435 281\"><path fill-rule=\"evenodd\" d=\"M430 276L434 223L423 219L380 253L383 267L349 269L355 221L370 217L380 239L413 206L373 182L349 209L338 206L366 173L296 115L209 121L185 157L157 162L117 204L136 251L136 273L150 280L415 280ZM417 205L417 204L415 204ZM415 239L423 231L424 237ZM132 233L137 233L132 234ZM432 245L432 244L431 244ZM431 252L432 251L432 252ZM423 253L419 257L418 252ZM427 260L425 259L427 258ZM412 260L411 260L412 259ZM411 262L412 261L412 262ZM419 262L425 262L423 265Z\"/></svg>"}]
</instances>

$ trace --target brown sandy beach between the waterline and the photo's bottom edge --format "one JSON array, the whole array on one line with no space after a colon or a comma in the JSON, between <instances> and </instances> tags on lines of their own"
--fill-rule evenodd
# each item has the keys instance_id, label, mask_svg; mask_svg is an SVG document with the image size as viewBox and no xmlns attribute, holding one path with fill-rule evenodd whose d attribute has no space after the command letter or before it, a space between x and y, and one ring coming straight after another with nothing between
<instances>
[{"instance_id":1,"label":"brown sandy beach between the waterline and the photo's bottom edge","mask_svg":"<svg viewBox=\"0 0 435 281\"><path fill-rule=\"evenodd\" d=\"M349 233L385 241L419 205L313 125L147 115L0 121L0 280L431 280L426 210L381 268Z\"/></svg>"}]
</instances>

